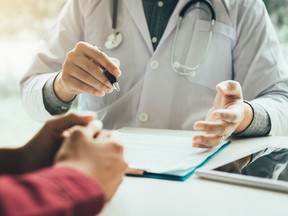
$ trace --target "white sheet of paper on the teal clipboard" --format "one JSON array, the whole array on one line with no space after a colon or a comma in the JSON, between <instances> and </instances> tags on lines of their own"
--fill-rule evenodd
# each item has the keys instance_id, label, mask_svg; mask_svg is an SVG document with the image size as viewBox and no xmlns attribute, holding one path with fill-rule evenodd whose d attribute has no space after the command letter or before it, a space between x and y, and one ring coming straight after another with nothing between
<instances>
[{"instance_id":1,"label":"white sheet of paper on the teal clipboard","mask_svg":"<svg viewBox=\"0 0 288 216\"><path fill-rule=\"evenodd\" d=\"M119 132L129 168L151 173L185 174L221 146L192 147L192 137Z\"/></svg>"}]
</instances>

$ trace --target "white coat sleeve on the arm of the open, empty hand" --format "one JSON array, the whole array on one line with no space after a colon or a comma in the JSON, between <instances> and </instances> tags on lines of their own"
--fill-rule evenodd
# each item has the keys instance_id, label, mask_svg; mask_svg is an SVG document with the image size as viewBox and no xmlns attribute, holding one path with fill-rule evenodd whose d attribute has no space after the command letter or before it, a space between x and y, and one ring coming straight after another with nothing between
<instances>
[{"instance_id":1,"label":"white coat sleeve on the arm of the open, empty hand","mask_svg":"<svg viewBox=\"0 0 288 216\"><path fill-rule=\"evenodd\" d=\"M237 32L234 79L244 100L267 112L270 134L288 134L288 67L265 5L261 0L236 5L230 13Z\"/></svg>"}]
</instances>

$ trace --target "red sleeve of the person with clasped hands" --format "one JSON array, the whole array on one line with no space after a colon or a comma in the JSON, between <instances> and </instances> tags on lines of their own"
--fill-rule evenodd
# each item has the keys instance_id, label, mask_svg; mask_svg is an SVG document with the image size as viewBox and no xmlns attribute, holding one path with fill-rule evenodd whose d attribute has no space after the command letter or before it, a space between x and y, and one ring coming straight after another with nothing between
<instances>
[{"instance_id":1,"label":"red sleeve of the person with clasped hands","mask_svg":"<svg viewBox=\"0 0 288 216\"><path fill-rule=\"evenodd\" d=\"M22 176L0 176L1 216L94 216L103 205L100 186L73 169L51 167Z\"/></svg>"}]
</instances>

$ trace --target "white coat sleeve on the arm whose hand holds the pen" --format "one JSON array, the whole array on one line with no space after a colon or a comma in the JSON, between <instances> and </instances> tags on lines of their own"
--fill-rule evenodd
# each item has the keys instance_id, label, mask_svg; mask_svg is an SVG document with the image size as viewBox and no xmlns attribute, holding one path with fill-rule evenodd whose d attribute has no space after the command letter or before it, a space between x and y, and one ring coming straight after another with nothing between
<instances>
[{"instance_id":1,"label":"white coat sleeve on the arm whose hand holds the pen","mask_svg":"<svg viewBox=\"0 0 288 216\"><path fill-rule=\"evenodd\" d=\"M83 40L84 16L90 1L68 0L56 24L41 41L30 68L20 81L22 103L37 121L52 115L43 101L43 88L62 69L66 53Z\"/></svg>"}]
</instances>

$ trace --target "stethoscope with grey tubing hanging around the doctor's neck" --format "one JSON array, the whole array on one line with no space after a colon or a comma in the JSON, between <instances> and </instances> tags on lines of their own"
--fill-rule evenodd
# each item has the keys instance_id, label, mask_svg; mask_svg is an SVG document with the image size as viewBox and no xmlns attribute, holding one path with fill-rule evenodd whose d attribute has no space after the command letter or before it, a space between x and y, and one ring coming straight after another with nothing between
<instances>
[{"instance_id":1,"label":"stethoscope with grey tubing hanging around the doctor's neck","mask_svg":"<svg viewBox=\"0 0 288 216\"><path fill-rule=\"evenodd\" d=\"M203 56L201 57L199 63L195 64L192 67L188 67L188 66L185 66L185 65L181 64L179 61L175 61L174 60L175 59L174 58L174 53L175 53L176 41L177 41L178 33L179 33L179 30L180 30L181 22L182 22L182 20L183 20L183 18L185 16L186 12L192 6L194 6L197 3L203 3L209 9L210 16L211 16L211 18L210 18L211 19L210 31L209 31L209 38L208 38L208 41L207 41L205 52L204 52ZM110 49L110 50L111 49L115 49L116 47L118 47L123 41L123 35L119 31L117 31L117 9L118 9L118 0L113 0L112 33L108 36L107 41L105 42L105 47L107 49ZM196 9L201 9L201 10L203 10L206 13L209 14L209 12L203 7L196 6ZM215 21L216 21L215 9L214 9L212 3L209 0L191 0L186 5L184 5L184 7L182 8L182 10L179 13L179 18L178 18L177 25L176 25L176 32L175 32L175 35L174 35L174 39L173 39L173 42L172 42L172 48L171 48L172 51L171 51L170 61L171 61L171 66L172 66L174 72L176 72L177 74L180 74L180 75L195 76L196 70L203 63L205 57L207 56L207 52L209 50L209 47L210 47L210 44L211 44L211 40L212 40L212 36L213 36L213 29L214 29Z\"/></svg>"}]
</instances>

